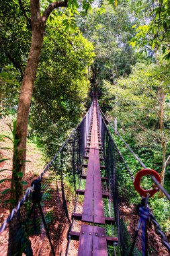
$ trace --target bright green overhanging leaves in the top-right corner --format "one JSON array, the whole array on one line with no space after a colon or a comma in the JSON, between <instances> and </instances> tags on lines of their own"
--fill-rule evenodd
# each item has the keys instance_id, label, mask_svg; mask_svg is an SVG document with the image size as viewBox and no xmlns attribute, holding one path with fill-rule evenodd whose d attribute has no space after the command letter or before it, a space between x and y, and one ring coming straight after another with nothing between
<instances>
[{"instance_id":1,"label":"bright green overhanging leaves in the top-right corner","mask_svg":"<svg viewBox=\"0 0 170 256\"><path fill-rule=\"evenodd\" d=\"M148 1L145 24L134 27L136 35L131 40L132 46L138 46L146 54L161 49L164 58L170 59L169 6L169 0Z\"/></svg>"}]
</instances>

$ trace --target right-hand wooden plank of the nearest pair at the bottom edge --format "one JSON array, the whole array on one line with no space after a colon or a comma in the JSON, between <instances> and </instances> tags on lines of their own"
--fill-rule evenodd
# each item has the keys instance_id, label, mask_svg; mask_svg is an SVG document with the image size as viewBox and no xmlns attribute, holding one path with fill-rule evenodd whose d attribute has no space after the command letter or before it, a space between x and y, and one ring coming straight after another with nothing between
<instances>
[{"instance_id":1,"label":"right-hand wooden plank of the nearest pair at the bottom edge","mask_svg":"<svg viewBox=\"0 0 170 256\"><path fill-rule=\"evenodd\" d=\"M108 256L105 228L93 226L93 256Z\"/></svg>"}]
</instances>

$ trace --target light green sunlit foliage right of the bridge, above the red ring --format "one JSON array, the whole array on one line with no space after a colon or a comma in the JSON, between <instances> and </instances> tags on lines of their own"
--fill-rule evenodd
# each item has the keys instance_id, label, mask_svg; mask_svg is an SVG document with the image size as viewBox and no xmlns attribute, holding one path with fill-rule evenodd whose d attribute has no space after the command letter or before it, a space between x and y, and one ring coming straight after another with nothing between
<instances>
[{"instance_id":1,"label":"light green sunlit foliage right of the bridge, above the red ring","mask_svg":"<svg viewBox=\"0 0 170 256\"><path fill-rule=\"evenodd\" d=\"M166 95L164 106L164 133L169 141L169 68L154 63L137 63L132 67L129 77L120 78L116 84L103 81L103 97L101 105L109 103L108 112L118 118L122 134L126 133L134 141L135 148L151 148L153 155L159 159L162 133L159 130L160 104L158 93ZM167 70L167 72L165 72ZM160 160L159 160L160 162Z\"/></svg>"}]
</instances>

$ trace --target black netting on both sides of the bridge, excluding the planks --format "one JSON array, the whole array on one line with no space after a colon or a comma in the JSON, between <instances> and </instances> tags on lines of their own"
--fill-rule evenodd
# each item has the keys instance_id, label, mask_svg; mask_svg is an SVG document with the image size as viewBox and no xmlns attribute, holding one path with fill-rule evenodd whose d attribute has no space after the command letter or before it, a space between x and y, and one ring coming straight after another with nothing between
<instances>
[{"instance_id":1,"label":"black netting on both sides of the bridge, excluding the planks","mask_svg":"<svg viewBox=\"0 0 170 256\"><path fill-rule=\"evenodd\" d=\"M13 216L9 216L7 228L3 230L1 226L0 255L77 255L79 242L71 239L71 232L80 232L82 224L91 225L81 222L79 218L73 217L71 220L71 214L83 212L84 195L81 191L85 190L86 184L92 113L93 104L60 152L48 164L43 176L32 183L34 191L21 201ZM134 190L132 174L99 108L97 122L101 141L101 185L103 193L107 195L103 198L104 212L105 217L115 218L116 222L106 223L103 227L107 236L118 237L118 243L115 240L108 245L108 255L126 256L132 247L138 223L136 207L141 198ZM140 236L139 233L132 255L141 255ZM151 223L148 224L148 255L156 253L169 255Z\"/></svg>"}]
</instances>

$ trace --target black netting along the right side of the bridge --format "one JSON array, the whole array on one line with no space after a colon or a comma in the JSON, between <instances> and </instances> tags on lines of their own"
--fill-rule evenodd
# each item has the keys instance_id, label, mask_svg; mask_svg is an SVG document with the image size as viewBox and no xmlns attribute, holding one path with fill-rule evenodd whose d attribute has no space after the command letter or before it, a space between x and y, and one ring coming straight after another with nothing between
<instances>
[{"instance_id":1,"label":"black netting along the right side of the bridge","mask_svg":"<svg viewBox=\"0 0 170 256\"><path fill-rule=\"evenodd\" d=\"M116 255L126 256L130 253L138 224L137 209L141 197L134 190L132 173L105 124L104 116L101 116L99 106L97 115L101 129L105 170L108 177L108 189L110 191L110 204L113 204L114 207L114 218L117 226L118 249ZM169 252L163 246L161 236L159 236L155 226L152 222L149 222L148 255L156 254L167 256ZM141 232L138 234L132 255L142 255Z\"/></svg>"}]
</instances>

